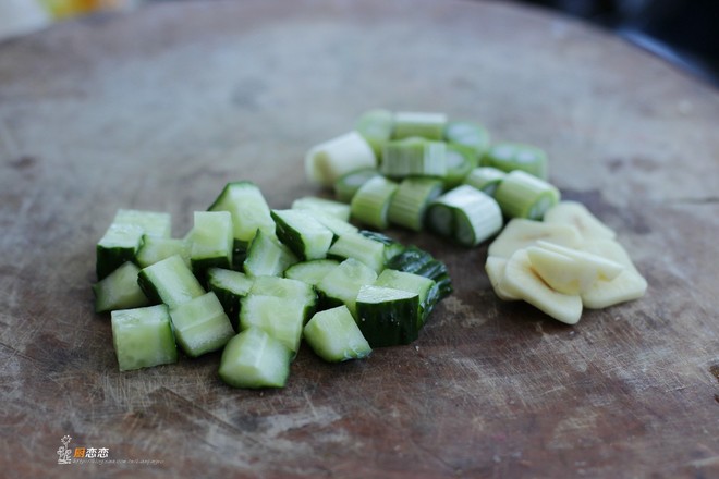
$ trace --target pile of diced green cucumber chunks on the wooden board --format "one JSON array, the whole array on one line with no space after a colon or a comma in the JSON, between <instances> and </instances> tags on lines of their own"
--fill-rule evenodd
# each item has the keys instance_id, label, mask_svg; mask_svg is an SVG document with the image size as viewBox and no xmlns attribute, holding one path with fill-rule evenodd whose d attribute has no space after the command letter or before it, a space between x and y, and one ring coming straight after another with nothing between
<instances>
[{"instance_id":1,"label":"pile of diced green cucumber chunks on the wooden board","mask_svg":"<svg viewBox=\"0 0 719 479\"><path fill-rule=\"evenodd\" d=\"M452 292L447 267L349 220L348 205L319 197L270 209L246 181L196 211L182 238L169 213L119 210L93 291L120 370L222 349L226 383L281 388L303 340L333 363L415 341Z\"/></svg>"}]
</instances>

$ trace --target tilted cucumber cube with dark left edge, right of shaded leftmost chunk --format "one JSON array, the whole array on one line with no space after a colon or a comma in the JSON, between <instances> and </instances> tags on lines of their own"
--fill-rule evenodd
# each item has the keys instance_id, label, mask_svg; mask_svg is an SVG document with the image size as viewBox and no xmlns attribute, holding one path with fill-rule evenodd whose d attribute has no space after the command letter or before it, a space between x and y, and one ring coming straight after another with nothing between
<instances>
[{"instance_id":1,"label":"tilted cucumber cube with dark left edge, right of shaded leftmost chunk","mask_svg":"<svg viewBox=\"0 0 719 479\"><path fill-rule=\"evenodd\" d=\"M202 284L180 255L143 268L137 282L150 300L164 303L170 308L205 294Z\"/></svg>"}]
</instances>

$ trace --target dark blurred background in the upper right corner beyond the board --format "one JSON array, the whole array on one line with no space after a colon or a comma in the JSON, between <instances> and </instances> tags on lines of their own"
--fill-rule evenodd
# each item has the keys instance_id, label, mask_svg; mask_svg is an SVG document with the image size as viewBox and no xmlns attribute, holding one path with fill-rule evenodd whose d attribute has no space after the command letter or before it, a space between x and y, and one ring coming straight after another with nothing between
<instances>
[{"instance_id":1,"label":"dark blurred background in the upper right corner beyond the board","mask_svg":"<svg viewBox=\"0 0 719 479\"><path fill-rule=\"evenodd\" d=\"M719 87L719 0L516 0L616 32Z\"/></svg>"}]
</instances>

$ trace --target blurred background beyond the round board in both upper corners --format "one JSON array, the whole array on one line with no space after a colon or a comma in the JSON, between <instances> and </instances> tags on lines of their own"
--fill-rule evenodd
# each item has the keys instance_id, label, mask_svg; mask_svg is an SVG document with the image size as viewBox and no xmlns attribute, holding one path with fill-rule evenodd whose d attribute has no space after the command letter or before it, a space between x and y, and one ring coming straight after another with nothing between
<instances>
[{"instance_id":1,"label":"blurred background beyond the round board in both upper corners","mask_svg":"<svg viewBox=\"0 0 719 479\"><path fill-rule=\"evenodd\" d=\"M169 0L0 0L0 41L53 22L153 1ZM719 87L719 0L505 1L583 19Z\"/></svg>"}]
</instances>

